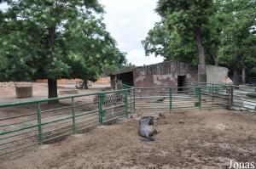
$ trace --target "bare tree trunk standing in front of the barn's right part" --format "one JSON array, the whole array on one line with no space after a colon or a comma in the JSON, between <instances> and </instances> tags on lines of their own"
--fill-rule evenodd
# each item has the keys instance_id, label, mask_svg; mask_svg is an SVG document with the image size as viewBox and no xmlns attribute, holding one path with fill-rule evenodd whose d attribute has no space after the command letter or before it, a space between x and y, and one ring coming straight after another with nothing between
<instances>
[{"instance_id":1,"label":"bare tree trunk standing in front of the barn's right part","mask_svg":"<svg viewBox=\"0 0 256 169\"><path fill-rule=\"evenodd\" d=\"M207 82L206 54L201 42L201 28L195 30L195 42L199 55L199 82Z\"/></svg>"}]
</instances>

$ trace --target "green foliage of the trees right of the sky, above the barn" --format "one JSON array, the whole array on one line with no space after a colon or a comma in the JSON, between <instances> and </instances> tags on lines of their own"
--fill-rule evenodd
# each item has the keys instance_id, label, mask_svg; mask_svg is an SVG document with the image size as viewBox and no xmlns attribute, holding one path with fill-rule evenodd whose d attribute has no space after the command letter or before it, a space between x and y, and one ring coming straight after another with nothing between
<instances>
[{"instance_id":1,"label":"green foliage of the trees right of the sky, above the barn","mask_svg":"<svg viewBox=\"0 0 256 169\"><path fill-rule=\"evenodd\" d=\"M145 54L198 64L200 35L207 64L256 73L255 8L254 0L159 0L161 21L143 40Z\"/></svg>"}]
</instances>

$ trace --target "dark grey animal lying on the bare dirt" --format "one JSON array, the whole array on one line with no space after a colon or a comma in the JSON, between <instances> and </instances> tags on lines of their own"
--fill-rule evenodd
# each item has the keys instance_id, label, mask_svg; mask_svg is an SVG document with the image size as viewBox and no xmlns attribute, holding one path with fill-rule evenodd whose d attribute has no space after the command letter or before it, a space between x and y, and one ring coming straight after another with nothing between
<instances>
[{"instance_id":1,"label":"dark grey animal lying on the bare dirt","mask_svg":"<svg viewBox=\"0 0 256 169\"><path fill-rule=\"evenodd\" d=\"M143 138L148 138L148 141L154 141L154 134L157 131L154 128L154 117L153 116L144 116L139 121L138 134Z\"/></svg>"}]
</instances>

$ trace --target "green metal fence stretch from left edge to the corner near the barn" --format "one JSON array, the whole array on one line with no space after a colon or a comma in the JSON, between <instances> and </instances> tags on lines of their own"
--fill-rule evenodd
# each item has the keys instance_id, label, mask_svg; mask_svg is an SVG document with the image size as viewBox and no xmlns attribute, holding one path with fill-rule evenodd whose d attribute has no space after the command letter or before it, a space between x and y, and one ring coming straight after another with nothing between
<instances>
[{"instance_id":1,"label":"green metal fence stretch from left edge to the corner near the barn","mask_svg":"<svg viewBox=\"0 0 256 169\"><path fill-rule=\"evenodd\" d=\"M127 117L133 106L133 89L0 104L0 156Z\"/></svg>"}]
</instances>

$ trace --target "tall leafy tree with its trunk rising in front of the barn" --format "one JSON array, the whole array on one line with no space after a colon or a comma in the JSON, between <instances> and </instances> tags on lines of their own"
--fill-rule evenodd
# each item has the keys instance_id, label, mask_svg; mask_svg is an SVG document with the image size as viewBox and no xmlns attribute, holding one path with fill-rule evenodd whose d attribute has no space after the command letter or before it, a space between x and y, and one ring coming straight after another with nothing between
<instances>
[{"instance_id":1,"label":"tall leafy tree with its trunk rising in front of the barn","mask_svg":"<svg viewBox=\"0 0 256 169\"><path fill-rule=\"evenodd\" d=\"M146 54L161 54L166 59L200 62L200 81L207 82L204 36L212 0L159 0L156 12L161 22L149 31L143 41ZM198 55L197 57L195 57Z\"/></svg>"}]
</instances>

